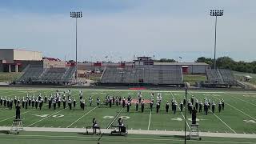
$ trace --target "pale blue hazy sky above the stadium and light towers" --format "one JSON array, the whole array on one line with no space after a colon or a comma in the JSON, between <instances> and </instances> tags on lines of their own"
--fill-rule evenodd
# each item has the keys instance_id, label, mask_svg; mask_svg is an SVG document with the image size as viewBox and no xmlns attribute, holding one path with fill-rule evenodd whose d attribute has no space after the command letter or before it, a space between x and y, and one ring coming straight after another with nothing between
<instances>
[{"instance_id":1,"label":"pale blue hazy sky above the stadium and light towers","mask_svg":"<svg viewBox=\"0 0 256 144\"><path fill-rule=\"evenodd\" d=\"M0 1L0 48L42 51L46 57L74 59L78 19L80 61L130 60L134 55L193 62L214 56L214 18L218 18L217 56L254 61L254 0L8 0Z\"/></svg>"}]
</instances>

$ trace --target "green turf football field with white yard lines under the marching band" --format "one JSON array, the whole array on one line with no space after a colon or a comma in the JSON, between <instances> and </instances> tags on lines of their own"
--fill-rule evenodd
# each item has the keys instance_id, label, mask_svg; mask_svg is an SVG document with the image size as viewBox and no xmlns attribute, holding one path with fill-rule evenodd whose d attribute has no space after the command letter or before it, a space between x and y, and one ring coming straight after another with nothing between
<instances>
[{"instance_id":1,"label":"green turf football field with white yard lines under the marching band","mask_svg":"<svg viewBox=\"0 0 256 144\"><path fill-rule=\"evenodd\" d=\"M150 99L150 93L152 90L141 90L144 99ZM44 94L54 94L54 89L43 90L43 89L33 89L33 90L10 90L10 89L0 89L0 96L14 98L14 96L19 96L20 98L26 97L26 94L35 94L39 93L44 96ZM106 106L95 106L96 98L99 96L101 101L103 101L106 97L106 94L127 97L130 95L132 98L137 98L138 91L136 90L83 90L83 95L86 99L86 105L88 105L88 98L91 95L94 99L94 106L86 106L86 110L81 110L78 104L78 92L79 90L73 90L72 96L76 97L77 107L73 110L69 110L66 108L63 110L62 106L57 110L49 110L47 104L44 103L42 110L31 109L30 107L27 110L22 109L22 121L24 126L29 127L61 127L61 128L83 128L86 126L91 126L92 118L96 118L99 125L102 129L107 129L111 123L117 123L117 118L122 117L124 119L124 123L128 126L129 129L132 130L168 130L168 131L182 131L184 130L184 112L181 113L178 107L178 111L176 114L170 110L169 113L165 111L166 101L171 100L171 98L175 98L177 102L181 102L185 96L185 91L182 90L161 90L156 91L162 94L162 106L159 114L156 113L156 110L150 112L149 104L146 104L146 110L144 113L139 111L135 111L135 104L133 104L130 108L130 112L126 112L126 108L122 109L122 106L112 106L111 108ZM225 100L225 110L221 113L218 113L218 105L216 106L215 114L211 112L208 115L198 113L198 123L200 125L200 130L202 132L219 132L219 133L238 133L238 134L255 134L256 133L256 93L250 92L225 92L225 91L193 91L190 90L187 98L191 98L194 95L198 100L202 100L207 97L210 98L211 102L215 102L218 104L218 101L222 98ZM154 106L155 107L155 106ZM0 106L0 126L11 126L12 120L14 119L14 109L8 110L7 108ZM191 116L187 114L186 122L188 124L191 123ZM187 125L187 130L190 129L190 126ZM4 136L0 135L0 138L4 142L10 142L11 137L15 139L21 139L22 143L27 143L28 139L30 139L29 132L26 132L25 135L28 136ZM34 133L33 133L34 134ZM65 135L63 133L61 135ZM40 135L40 134L39 134ZM40 136L34 136L35 141L37 139L41 139ZM45 134L42 135L52 135ZM71 134L72 135L72 134ZM78 137L76 143L81 143L86 140L94 138L81 138L83 135L75 135L74 138L67 138L65 140L66 143L70 141L70 139L76 139ZM162 136L163 137L163 136ZM142 143L142 140L138 140L138 138L162 138L160 136L148 136L143 135L143 137L139 137L137 135L131 134L127 138L119 139L114 137L104 137L103 140L106 140L105 143L128 143L128 142L137 142ZM137 138L137 139L134 139ZM46 142L48 142L51 138L47 137ZM54 137L54 141L62 138ZM171 143L180 143L181 138L176 137L163 137L163 139L167 139L166 141L171 141ZM172 140L169 140L172 139ZM207 139L207 138L206 138ZM204 138L204 140L206 140ZM234 138L208 138L208 140L212 141L220 141L220 142L238 142L238 139ZM254 139L255 140L255 139ZM154 140L145 140L145 142L152 143L166 143L165 140L154 141ZM250 142L245 138L239 138L241 142ZM62 143L65 143L62 142ZM218 142L218 143L220 143ZM255 141L254 141L255 142ZM102 142L104 143L104 141ZM190 141L190 143L195 143ZM203 142L201 142L203 143ZM207 142L209 143L209 142ZM215 143L215 142L213 142Z\"/></svg>"}]
</instances>

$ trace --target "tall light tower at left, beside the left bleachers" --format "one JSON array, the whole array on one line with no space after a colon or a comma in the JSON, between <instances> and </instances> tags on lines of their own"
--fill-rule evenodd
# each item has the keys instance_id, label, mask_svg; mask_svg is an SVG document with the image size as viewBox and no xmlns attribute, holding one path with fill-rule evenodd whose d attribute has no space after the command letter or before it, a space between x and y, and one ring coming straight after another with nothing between
<instances>
[{"instance_id":1,"label":"tall light tower at left, beside the left bleachers","mask_svg":"<svg viewBox=\"0 0 256 144\"><path fill-rule=\"evenodd\" d=\"M75 63L76 63L75 79L76 79L76 82L78 82L78 18L82 18L82 11L79 11L79 12L71 11L70 17L75 18Z\"/></svg>"}]
</instances>

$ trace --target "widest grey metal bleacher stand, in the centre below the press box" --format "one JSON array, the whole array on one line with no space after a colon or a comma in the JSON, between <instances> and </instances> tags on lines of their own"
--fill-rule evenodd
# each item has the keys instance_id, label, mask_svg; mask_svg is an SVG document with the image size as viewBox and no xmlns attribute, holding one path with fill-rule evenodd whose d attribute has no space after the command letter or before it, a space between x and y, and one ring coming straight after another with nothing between
<instances>
[{"instance_id":1,"label":"widest grey metal bleacher stand, in the centre below the press box","mask_svg":"<svg viewBox=\"0 0 256 144\"><path fill-rule=\"evenodd\" d=\"M154 67L106 67L101 78L102 84L150 84L182 85L181 69L161 69Z\"/></svg>"}]
</instances>

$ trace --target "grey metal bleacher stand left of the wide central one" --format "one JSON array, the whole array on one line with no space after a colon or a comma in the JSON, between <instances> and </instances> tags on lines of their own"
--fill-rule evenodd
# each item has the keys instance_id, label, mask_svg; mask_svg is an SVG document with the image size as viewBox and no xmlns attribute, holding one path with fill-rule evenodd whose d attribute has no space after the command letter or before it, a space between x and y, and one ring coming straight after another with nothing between
<instances>
[{"instance_id":1,"label":"grey metal bleacher stand left of the wide central one","mask_svg":"<svg viewBox=\"0 0 256 144\"><path fill-rule=\"evenodd\" d=\"M43 68L42 66L29 66L22 77L21 83L69 83L74 78L75 68Z\"/></svg>"}]
</instances>

